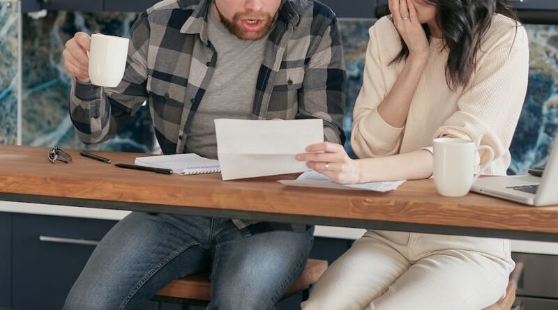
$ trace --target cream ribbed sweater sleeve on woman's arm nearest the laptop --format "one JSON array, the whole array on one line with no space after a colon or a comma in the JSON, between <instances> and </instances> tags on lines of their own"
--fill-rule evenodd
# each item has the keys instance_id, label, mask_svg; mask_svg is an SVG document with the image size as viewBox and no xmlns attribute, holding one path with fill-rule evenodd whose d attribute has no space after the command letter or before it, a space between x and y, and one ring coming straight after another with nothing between
<instances>
[{"instance_id":1,"label":"cream ribbed sweater sleeve on woman's arm nearest the laptop","mask_svg":"<svg viewBox=\"0 0 558 310\"><path fill-rule=\"evenodd\" d=\"M490 146L496 159L508 153L529 77L525 29L518 27L517 33L508 31L501 38L490 47L483 46L485 53L478 57L472 84L458 98L458 111L434 134ZM481 164L486 157L481 157Z\"/></svg>"}]
</instances>

